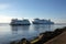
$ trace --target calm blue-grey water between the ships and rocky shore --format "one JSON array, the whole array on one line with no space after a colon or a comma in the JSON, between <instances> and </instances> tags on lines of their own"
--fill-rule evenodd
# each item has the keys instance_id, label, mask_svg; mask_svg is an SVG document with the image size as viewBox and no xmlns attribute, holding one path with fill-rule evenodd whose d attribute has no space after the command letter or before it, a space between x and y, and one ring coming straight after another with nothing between
<instances>
[{"instance_id":1,"label":"calm blue-grey water between the ships and rocky shore","mask_svg":"<svg viewBox=\"0 0 66 44\"><path fill-rule=\"evenodd\" d=\"M33 38L45 31L54 31L57 28L66 26L66 24L32 24L11 26L9 24L0 24L0 44L9 44L11 41L18 41L23 37Z\"/></svg>"}]
</instances>

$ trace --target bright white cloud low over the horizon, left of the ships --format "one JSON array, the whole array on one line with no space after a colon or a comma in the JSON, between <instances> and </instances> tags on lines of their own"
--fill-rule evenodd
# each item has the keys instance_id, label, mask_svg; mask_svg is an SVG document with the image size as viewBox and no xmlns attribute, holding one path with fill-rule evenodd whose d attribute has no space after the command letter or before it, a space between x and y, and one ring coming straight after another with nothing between
<instances>
[{"instance_id":1,"label":"bright white cloud low over the horizon, left of the ships","mask_svg":"<svg viewBox=\"0 0 66 44\"><path fill-rule=\"evenodd\" d=\"M0 23L10 23L11 19L20 19L20 20L22 20L22 18L8 16L8 15L4 15L4 14L0 14Z\"/></svg>"}]
</instances>

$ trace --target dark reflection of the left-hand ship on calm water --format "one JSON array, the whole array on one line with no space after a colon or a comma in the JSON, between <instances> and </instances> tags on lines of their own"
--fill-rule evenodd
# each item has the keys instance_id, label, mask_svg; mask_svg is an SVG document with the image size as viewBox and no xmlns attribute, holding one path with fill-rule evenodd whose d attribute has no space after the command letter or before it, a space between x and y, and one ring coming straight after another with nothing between
<instances>
[{"instance_id":1,"label":"dark reflection of the left-hand ship on calm water","mask_svg":"<svg viewBox=\"0 0 66 44\"><path fill-rule=\"evenodd\" d=\"M30 25L11 25L12 34L18 34L19 32L28 31Z\"/></svg>"}]
</instances>

